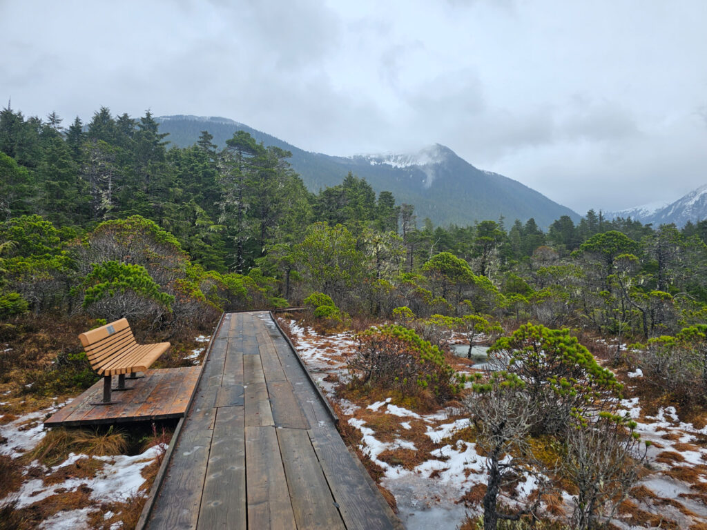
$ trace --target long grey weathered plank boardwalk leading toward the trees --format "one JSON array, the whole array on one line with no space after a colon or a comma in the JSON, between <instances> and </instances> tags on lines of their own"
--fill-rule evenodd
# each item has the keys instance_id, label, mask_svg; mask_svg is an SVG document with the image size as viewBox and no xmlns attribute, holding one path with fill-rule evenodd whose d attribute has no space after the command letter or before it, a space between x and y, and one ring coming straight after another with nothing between
<instances>
[{"instance_id":1,"label":"long grey weathered plank boardwalk leading toward the trees","mask_svg":"<svg viewBox=\"0 0 707 530\"><path fill-rule=\"evenodd\" d=\"M402 528L267 312L224 316L143 520L151 530Z\"/></svg>"}]
</instances>

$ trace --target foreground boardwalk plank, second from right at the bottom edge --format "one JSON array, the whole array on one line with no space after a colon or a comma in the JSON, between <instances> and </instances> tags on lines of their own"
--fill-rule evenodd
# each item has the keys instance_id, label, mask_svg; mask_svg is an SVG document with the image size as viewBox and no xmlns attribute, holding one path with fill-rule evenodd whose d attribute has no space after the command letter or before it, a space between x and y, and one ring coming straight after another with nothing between
<instances>
[{"instance_id":1,"label":"foreground boardwalk plank, second from right at the bottom edge","mask_svg":"<svg viewBox=\"0 0 707 530\"><path fill-rule=\"evenodd\" d=\"M278 429L277 439L298 530L345 530L307 431Z\"/></svg>"}]
</instances>

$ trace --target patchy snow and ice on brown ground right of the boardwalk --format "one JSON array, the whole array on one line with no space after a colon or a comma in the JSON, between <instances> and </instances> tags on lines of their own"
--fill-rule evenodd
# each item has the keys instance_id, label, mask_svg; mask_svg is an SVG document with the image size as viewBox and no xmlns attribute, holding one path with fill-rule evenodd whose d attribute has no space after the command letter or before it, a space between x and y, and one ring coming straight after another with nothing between
<instances>
[{"instance_id":1,"label":"patchy snow and ice on brown ground right of the boardwalk","mask_svg":"<svg viewBox=\"0 0 707 530\"><path fill-rule=\"evenodd\" d=\"M383 471L380 484L395 496L399 517L404 526L408 530L427 529L430 526L458 526L464 519L466 508L463 502L457 502L474 485L486 483L486 457L479 455L474 443L461 440L455 435L456 432L469 427L469 418L464 418L458 408L421 415L393 404L390 398L362 406L340 399L336 395L336 384L325 381L325 377L332 374L339 376L339 380L346 380L346 355L354 351L355 347L353 334L344 332L322 336L311 328L305 329L294 320L289 321L288 325L297 351L315 380L325 389L329 399L339 403L341 413L346 416L341 420L361 432L359 449ZM597 342L607 344L607 341L602 339ZM608 344L616 346L617 342L609 341ZM621 348L625 347L621 345ZM643 377L643 372L636 369L629 372L627 377L628 381L631 381ZM638 485L648 488L658 497L669 499L670 502L679 502L684 512L676 507L679 505L665 505L660 499L655 502L650 498L633 499L636 505L641 510L653 514L666 514L666 517L681 528L707 520L707 499L686 497L699 492L691 489L690 483L670 474L674 475L676 470L685 467L698 471L699 484L707 484L707 447L703 442L697 443L707 436L707 426L696 428L691 423L681 421L676 409L670 406L659 408L655 416L647 416L638 397L622 399L619 406L621 413L638 423L636 432L641 438L653 442L648 448L652 471L642 478ZM372 425L378 415L399 418L399 429L396 432L375 432ZM370 422L362 417L368 418ZM428 437L434 448L430 450L428 442L428 453L421 454L413 462L414 465L404 467L389 463L395 462L395 459L385 456L382 458L387 461L381 459L382 453L396 449L418 452L417 448L422 445L415 442L414 437L417 435L419 441L420 432L423 437ZM674 454L679 456L666 463L666 452L669 453L668 457ZM661 455L664 455L662 460ZM536 486L536 479L526 476L516 488L519 498L531 493ZM571 495L562 492L561 496L566 507L570 507ZM688 511L694 516L686 515L685 512L689 513ZM638 528L628 524L626 517L619 516L615 519L617 526L624 529Z\"/></svg>"}]
</instances>

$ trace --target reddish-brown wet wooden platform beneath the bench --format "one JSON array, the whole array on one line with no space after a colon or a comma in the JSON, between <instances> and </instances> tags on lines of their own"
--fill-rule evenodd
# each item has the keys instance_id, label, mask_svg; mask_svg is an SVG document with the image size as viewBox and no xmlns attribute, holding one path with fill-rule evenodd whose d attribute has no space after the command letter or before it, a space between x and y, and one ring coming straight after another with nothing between
<instances>
[{"instance_id":1,"label":"reddish-brown wet wooden platform beneath the bench","mask_svg":"<svg viewBox=\"0 0 707 530\"><path fill-rule=\"evenodd\" d=\"M45 421L46 427L183 418L199 382L200 366L147 370L145 377L126 381L129 390L114 390L110 405L103 399L103 379Z\"/></svg>"}]
</instances>

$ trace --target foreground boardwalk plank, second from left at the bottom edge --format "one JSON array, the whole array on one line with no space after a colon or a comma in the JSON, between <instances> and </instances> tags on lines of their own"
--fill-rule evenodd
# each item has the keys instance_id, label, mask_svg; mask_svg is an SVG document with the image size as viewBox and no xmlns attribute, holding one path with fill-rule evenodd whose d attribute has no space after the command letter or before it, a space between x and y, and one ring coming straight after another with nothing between
<instances>
[{"instance_id":1,"label":"foreground boardwalk plank, second from left at the bottom edge","mask_svg":"<svg viewBox=\"0 0 707 530\"><path fill-rule=\"evenodd\" d=\"M219 408L197 529L246 529L243 407Z\"/></svg>"}]
</instances>

